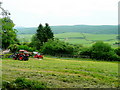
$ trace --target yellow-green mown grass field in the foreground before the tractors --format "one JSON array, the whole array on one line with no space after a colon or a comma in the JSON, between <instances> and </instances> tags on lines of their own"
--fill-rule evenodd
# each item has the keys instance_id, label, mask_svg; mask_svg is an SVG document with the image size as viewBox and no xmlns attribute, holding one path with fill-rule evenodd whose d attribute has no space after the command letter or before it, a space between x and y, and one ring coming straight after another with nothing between
<instances>
[{"instance_id":1,"label":"yellow-green mown grass field in the foreground before the tractors","mask_svg":"<svg viewBox=\"0 0 120 90\"><path fill-rule=\"evenodd\" d=\"M67 59L51 56L44 60L2 60L2 79L18 77L47 84L48 88L116 88L118 63L91 59Z\"/></svg>"}]
</instances>

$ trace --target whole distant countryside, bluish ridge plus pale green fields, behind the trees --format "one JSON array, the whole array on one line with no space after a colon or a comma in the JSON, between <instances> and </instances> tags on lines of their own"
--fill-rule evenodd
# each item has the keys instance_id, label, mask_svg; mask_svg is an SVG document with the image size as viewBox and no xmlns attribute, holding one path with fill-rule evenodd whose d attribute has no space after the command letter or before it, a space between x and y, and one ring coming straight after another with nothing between
<instances>
[{"instance_id":1,"label":"whole distant countryside, bluish ridge plus pale green fields, behind the trees","mask_svg":"<svg viewBox=\"0 0 120 90\"><path fill-rule=\"evenodd\" d=\"M91 46L95 41L102 40L109 43L112 47L117 42L117 25L64 25L50 26L55 38L71 44L82 44ZM21 42L30 42L32 35L36 33L37 27L16 27L18 39Z\"/></svg>"}]
</instances>

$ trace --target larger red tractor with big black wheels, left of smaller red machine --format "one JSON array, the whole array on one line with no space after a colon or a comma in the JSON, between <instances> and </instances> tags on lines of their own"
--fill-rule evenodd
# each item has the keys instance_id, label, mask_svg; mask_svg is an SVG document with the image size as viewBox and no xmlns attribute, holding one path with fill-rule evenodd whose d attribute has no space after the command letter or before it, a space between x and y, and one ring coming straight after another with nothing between
<instances>
[{"instance_id":1,"label":"larger red tractor with big black wheels, left of smaller red machine","mask_svg":"<svg viewBox=\"0 0 120 90\"><path fill-rule=\"evenodd\" d=\"M28 51L26 50L19 50L19 53L14 54L14 60L24 60L27 61L29 59Z\"/></svg>"}]
</instances>

